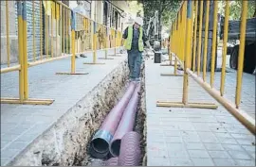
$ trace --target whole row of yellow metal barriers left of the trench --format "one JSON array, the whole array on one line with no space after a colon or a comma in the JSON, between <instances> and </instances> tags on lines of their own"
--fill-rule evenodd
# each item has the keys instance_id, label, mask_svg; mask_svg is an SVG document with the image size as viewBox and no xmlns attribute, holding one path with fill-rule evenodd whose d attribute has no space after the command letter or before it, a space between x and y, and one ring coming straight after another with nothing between
<instances>
[{"instance_id":1,"label":"whole row of yellow metal barriers left of the trench","mask_svg":"<svg viewBox=\"0 0 256 167\"><path fill-rule=\"evenodd\" d=\"M76 73L76 55L93 51L92 64L96 64L97 49L104 49L107 58L107 49L113 48L112 42L110 44L108 40L110 27L73 12L61 1L16 1L18 62L12 63L10 62L9 3L14 4L14 2L5 2L7 67L1 68L1 74L19 71L19 97L1 97L1 104L50 105L54 100L28 98L29 67L71 57L70 72L56 74L87 75L88 73ZM31 7L32 14L27 14L27 5ZM112 29L112 31L121 34L118 30ZM120 39L121 36L115 34L111 39L115 42L115 53Z\"/></svg>"}]
</instances>

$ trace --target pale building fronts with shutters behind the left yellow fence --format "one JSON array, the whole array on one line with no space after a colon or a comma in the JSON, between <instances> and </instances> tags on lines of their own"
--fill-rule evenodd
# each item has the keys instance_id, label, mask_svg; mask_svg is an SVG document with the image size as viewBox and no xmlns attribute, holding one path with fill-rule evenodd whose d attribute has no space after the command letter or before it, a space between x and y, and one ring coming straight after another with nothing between
<instances>
[{"instance_id":1,"label":"pale building fronts with shutters behind the left yellow fence","mask_svg":"<svg viewBox=\"0 0 256 167\"><path fill-rule=\"evenodd\" d=\"M64 8L61 10L58 5L53 10L52 4L58 4L57 2L27 1L28 59L40 58L42 48L44 48L43 55L47 55L46 50L48 50L54 57L60 55L66 43L69 43L70 48L70 28L66 29L66 24L70 23L64 21L70 20L70 15L65 15ZM65 0L62 2L71 9L77 8L78 3L82 3L84 15L87 18L119 31L123 31L127 25L132 24L132 18L136 17L136 13L130 12L127 0ZM52 4L49 5L50 3ZM65 38L66 33L69 36L68 39ZM9 38L9 45L7 38ZM18 61L17 1L1 1L1 65L8 62L8 55L10 63Z\"/></svg>"}]
</instances>

